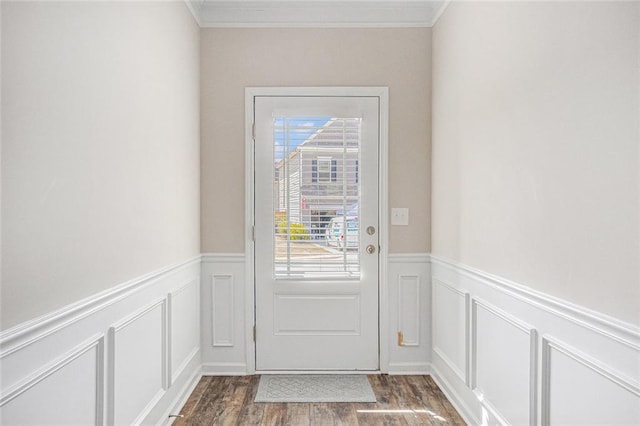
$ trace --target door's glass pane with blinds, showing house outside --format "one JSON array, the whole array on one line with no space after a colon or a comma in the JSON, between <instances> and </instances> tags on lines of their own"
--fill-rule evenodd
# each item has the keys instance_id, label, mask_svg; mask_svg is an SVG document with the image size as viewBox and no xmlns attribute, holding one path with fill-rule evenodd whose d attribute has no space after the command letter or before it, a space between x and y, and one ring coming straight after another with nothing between
<instances>
[{"instance_id":1,"label":"door's glass pane with blinds, showing house outside","mask_svg":"<svg viewBox=\"0 0 640 426\"><path fill-rule=\"evenodd\" d=\"M274 118L275 278L360 277L360 118Z\"/></svg>"}]
</instances>

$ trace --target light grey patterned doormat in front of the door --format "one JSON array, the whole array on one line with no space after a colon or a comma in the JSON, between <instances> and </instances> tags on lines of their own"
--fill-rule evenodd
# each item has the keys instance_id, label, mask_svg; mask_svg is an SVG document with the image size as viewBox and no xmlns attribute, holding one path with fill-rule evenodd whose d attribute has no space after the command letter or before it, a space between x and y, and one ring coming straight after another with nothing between
<instances>
[{"instance_id":1,"label":"light grey patterned doormat in front of the door","mask_svg":"<svg viewBox=\"0 0 640 426\"><path fill-rule=\"evenodd\" d=\"M364 374L263 375L255 402L376 402Z\"/></svg>"}]
</instances>

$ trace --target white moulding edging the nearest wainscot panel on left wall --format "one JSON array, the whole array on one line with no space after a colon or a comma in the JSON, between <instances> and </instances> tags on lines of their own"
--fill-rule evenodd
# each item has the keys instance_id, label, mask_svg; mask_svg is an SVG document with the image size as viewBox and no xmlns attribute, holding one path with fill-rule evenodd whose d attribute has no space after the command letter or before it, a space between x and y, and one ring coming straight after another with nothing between
<instances>
[{"instance_id":1,"label":"white moulding edging the nearest wainscot panel on left wall","mask_svg":"<svg viewBox=\"0 0 640 426\"><path fill-rule=\"evenodd\" d=\"M104 390L104 335L97 335L87 342L81 344L77 348L69 351L62 358L54 361L51 365L44 367L43 369L36 371L31 376L25 378L20 383L12 386L6 392L3 392L0 396L0 407L4 406L8 402L19 397L29 389L42 382L53 373L61 370L69 365L74 360L78 359L91 349L96 349L96 423L101 425L103 422L102 409L103 403L103 390Z\"/></svg>"}]
</instances>

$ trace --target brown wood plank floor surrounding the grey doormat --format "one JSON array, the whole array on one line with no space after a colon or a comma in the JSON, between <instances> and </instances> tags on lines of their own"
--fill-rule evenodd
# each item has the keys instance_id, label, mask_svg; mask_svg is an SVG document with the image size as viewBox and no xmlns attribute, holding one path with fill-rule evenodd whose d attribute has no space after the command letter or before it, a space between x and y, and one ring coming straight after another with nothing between
<instances>
[{"instance_id":1,"label":"brown wood plank floor surrounding the grey doormat","mask_svg":"<svg viewBox=\"0 0 640 426\"><path fill-rule=\"evenodd\" d=\"M464 425L430 376L368 376L376 403L253 402L260 376L203 377L174 425Z\"/></svg>"}]
</instances>

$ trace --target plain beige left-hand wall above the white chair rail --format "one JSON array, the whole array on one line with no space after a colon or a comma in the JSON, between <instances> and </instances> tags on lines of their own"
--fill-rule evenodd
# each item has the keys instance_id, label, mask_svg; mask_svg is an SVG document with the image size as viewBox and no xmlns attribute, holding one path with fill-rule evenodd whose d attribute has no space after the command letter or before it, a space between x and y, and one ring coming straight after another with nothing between
<instances>
[{"instance_id":1,"label":"plain beige left-hand wall above the white chair rail","mask_svg":"<svg viewBox=\"0 0 640 426\"><path fill-rule=\"evenodd\" d=\"M2 2L1 326L199 253L183 2Z\"/></svg>"}]
</instances>

